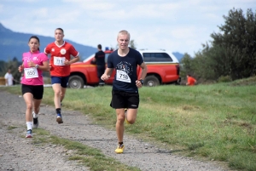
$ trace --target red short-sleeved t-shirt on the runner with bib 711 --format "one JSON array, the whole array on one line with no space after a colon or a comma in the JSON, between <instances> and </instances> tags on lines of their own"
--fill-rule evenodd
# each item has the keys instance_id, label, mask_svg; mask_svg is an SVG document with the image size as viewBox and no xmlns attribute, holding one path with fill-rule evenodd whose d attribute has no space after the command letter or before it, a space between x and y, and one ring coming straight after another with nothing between
<instances>
[{"instance_id":1,"label":"red short-sleeved t-shirt on the runner with bib 711","mask_svg":"<svg viewBox=\"0 0 256 171\"><path fill-rule=\"evenodd\" d=\"M49 64L51 64L50 75L55 77L67 77L70 75L70 66L65 66L64 61L70 60L71 56L78 57L79 52L73 45L64 41L61 46L56 43L49 43L44 48L45 54L50 54Z\"/></svg>"}]
</instances>

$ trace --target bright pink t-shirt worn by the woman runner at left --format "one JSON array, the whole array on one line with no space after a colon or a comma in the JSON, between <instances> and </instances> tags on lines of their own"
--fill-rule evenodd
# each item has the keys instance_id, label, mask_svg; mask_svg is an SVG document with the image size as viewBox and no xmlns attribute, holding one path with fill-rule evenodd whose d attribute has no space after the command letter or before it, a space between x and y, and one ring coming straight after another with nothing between
<instances>
[{"instance_id":1,"label":"bright pink t-shirt worn by the woman runner at left","mask_svg":"<svg viewBox=\"0 0 256 171\"><path fill-rule=\"evenodd\" d=\"M47 61L48 57L44 53L37 52L26 52L22 55L23 66L25 68L30 68L27 64L28 61L32 61L39 66L43 66L43 62ZM26 85L44 85L43 71L38 70L38 77L26 78L26 70L24 70L24 77L22 77L21 83Z\"/></svg>"}]
</instances>

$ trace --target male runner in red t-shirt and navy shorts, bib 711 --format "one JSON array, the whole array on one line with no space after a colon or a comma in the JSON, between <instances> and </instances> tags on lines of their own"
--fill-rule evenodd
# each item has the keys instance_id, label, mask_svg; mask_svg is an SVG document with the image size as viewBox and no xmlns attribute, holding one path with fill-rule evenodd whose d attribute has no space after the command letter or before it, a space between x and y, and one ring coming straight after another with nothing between
<instances>
[{"instance_id":1,"label":"male runner in red t-shirt and navy shorts, bib 711","mask_svg":"<svg viewBox=\"0 0 256 171\"><path fill-rule=\"evenodd\" d=\"M55 42L49 43L44 48L45 54L50 54L49 66L52 88L55 92L56 122L63 123L61 117L61 101L66 94L70 65L79 61L79 52L72 44L63 40L64 31L61 28L55 29ZM73 55L73 60L71 56Z\"/></svg>"}]
</instances>

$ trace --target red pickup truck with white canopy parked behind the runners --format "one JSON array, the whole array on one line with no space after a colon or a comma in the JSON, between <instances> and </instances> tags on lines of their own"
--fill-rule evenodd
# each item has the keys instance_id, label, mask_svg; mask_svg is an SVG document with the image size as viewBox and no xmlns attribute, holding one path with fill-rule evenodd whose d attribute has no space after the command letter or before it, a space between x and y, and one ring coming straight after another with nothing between
<instances>
[{"instance_id":1,"label":"red pickup truck with white canopy parked behind the runners","mask_svg":"<svg viewBox=\"0 0 256 171\"><path fill-rule=\"evenodd\" d=\"M106 54L106 62L108 55L113 50L104 51ZM144 79L144 86L154 87L160 84L176 83L179 84L181 79L179 77L179 63L177 58L163 50L139 50L143 55L143 60L148 66L147 77ZM95 54L90 55L82 62L76 62L71 65L70 77L68 81L69 88L84 88L84 85L95 86L99 83L97 77L96 65L91 64L91 60ZM142 69L137 67L137 76L140 77ZM106 84L113 83L115 71L109 77Z\"/></svg>"}]
</instances>

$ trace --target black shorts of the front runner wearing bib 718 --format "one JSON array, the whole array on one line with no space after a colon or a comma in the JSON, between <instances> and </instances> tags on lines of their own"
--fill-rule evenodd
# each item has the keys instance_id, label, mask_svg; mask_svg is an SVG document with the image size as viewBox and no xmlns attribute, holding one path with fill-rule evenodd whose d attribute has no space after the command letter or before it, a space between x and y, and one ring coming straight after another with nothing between
<instances>
[{"instance_id":1,"label":"black shorts of the front runner wearing bib 718","mask_svg":"<svg viewBox=\"0 0 256 171\"><path fill-rule=\"evenodd\" d=\"M137 109L140 102L139 94L112 90L110 106L114 109L131 108Z\"/></svg>"}]
</instances>

